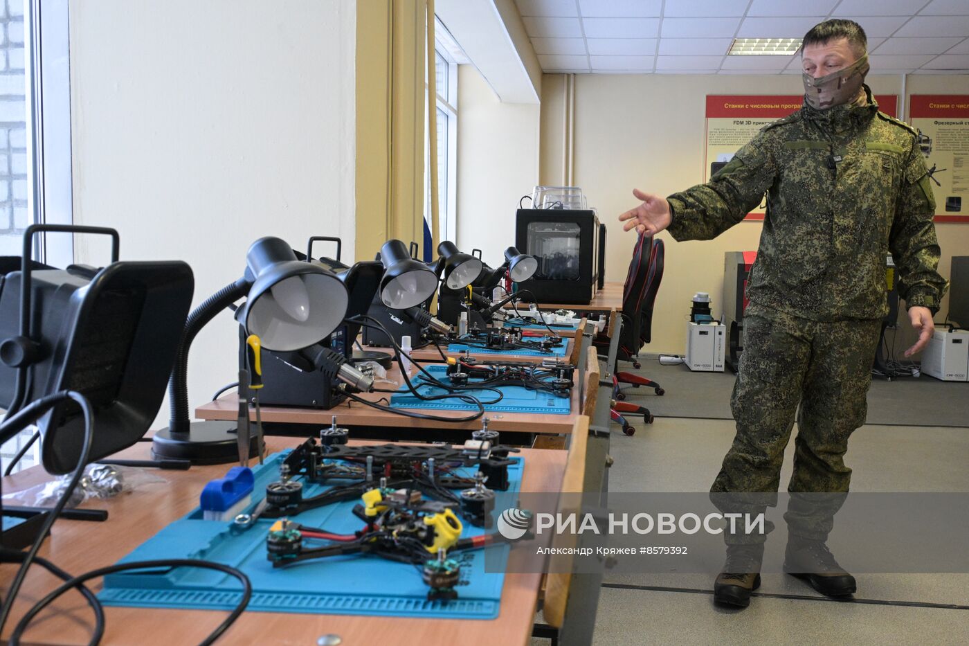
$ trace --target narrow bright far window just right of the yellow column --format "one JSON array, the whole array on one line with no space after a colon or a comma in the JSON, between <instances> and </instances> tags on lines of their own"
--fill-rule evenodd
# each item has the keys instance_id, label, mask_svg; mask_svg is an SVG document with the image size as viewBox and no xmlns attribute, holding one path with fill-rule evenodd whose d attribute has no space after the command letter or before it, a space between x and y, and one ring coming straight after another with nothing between
<instances>
[{"instance_id":1,"label":"narrow bright far window just right of the yellow column","mask_svg":"<svg viewBox=\"0 0 969 646\"><path fill-rule=\"evenodd\" d=\"M437 22L435 31L443 30ZM457 236L457 63L441 41L435 43L435 77L437 90L437 180L441 241ZM429 137L424 133L424 219L430 223L430 154ZM440 242L440 241L438 241Z\"/></svg>"}]
</instances>

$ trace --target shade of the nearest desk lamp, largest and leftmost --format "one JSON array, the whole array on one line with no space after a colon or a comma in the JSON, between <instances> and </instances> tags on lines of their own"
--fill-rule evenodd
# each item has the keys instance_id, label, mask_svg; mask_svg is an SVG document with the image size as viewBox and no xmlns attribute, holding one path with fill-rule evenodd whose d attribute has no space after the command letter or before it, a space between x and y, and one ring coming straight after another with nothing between
<instances>
[{"instance_id":1,"label":"shade of the nearest desk lamp, largest and leftmost","mask_svg":"<svg viewBox=\"0 0 969 646\"><path fill-rule=\"evenodd\" d=\"M246 254L252 286L239 320L263 347L299 350L326 338L347 311L347 288L320 265L297 260L287 242L262 238Z\"/></svg>"}]
</instances>

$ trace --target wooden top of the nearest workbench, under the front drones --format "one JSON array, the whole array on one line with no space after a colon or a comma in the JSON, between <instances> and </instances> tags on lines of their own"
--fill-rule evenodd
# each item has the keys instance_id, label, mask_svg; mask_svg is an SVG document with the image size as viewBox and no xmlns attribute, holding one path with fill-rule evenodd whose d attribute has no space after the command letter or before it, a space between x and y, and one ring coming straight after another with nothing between
<instances>
[{"instance_id":1,"label":"wooden top of the nearest workbench, under the front drones","mask_svg":"<svg viewBox=\"0 0 969 646\"><path fill-rule=\"evenodd\" d=\"M269 451L295 445L295 440L271 437ZM140 443L117 457L146 458L147 443ZM565 451L523 449L525 468L521 491L559 491L566 463ZM229 466L193 467L188 471L155 471L165 484L145 485L140 490L109 501L89 501L83 507L109 511L104 523L58 520L40 555L71 574L111 565L128 554L173 520L199 504L199 494L208 480L223 475ZM25 489L49 479L41 468L30 468L4 478L4 492ZM16 565L0 566L0 587L6 588ZM501 609L497 619L443 620L402 619L379 616L309 615L245 612L219 640L220 644L316 644L321 635L336 634L342 646L373 644L408 645L460 643L526 644L531 638L539 595L541 573L506 574ZM11 621L2 637L10 636L16 619L60 584L39 566L31 568L14 605ZM101 589L100 581L89 584ZM106 646L138 644L197 644L225 617L223 611L155 610L134 607L106 607ZM93 613L77 593L61 597L42 612L24 633L24 642L69 646L87 644L93 627Z\"/></svg>"}]
</instances>

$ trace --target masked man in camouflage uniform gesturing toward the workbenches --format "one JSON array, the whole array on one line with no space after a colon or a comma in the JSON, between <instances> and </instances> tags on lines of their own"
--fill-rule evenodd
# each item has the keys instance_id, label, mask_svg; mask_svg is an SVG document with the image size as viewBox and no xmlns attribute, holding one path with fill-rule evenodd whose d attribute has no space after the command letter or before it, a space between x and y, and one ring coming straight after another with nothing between
<instances>
[{"instance_id":1,"label":"masked man in camouflage uniform gesturing toward the workbenches","mask_svg":"<svg viewBox=\"0 0 969 646\"><path fill-rule=\"evenodd\" d=\"M636 190L643 203L619 217L628 220L627 231L654 235L668 228L677 241L710 240L766 192L731 401L736 436L711 499L723 509L728 494L775 495L797 414L785 570L828 596L856 590L825 541L848 492L851 468L843 457L848 437L865 420L888 313L886 253L920 332L906 356L931 338L946 289L936 271L935 203L916 133L878 112L863 85L866 47L864 31L851 20L815 26L804 37L805 97L797 113L766 125L708 183L667 200ZM714 598L744 607L760 585L766 536L725 538L727 565Z\"/></svg>"}]
</instances>

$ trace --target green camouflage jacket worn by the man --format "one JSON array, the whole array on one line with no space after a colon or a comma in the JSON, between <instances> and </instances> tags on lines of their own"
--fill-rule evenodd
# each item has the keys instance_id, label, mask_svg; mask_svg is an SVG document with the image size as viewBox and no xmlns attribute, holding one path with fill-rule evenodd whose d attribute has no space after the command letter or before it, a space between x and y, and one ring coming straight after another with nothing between
<instances>
[{"instance_id":1,"label":"green camouflage jacket worn by the man","mask_svg":"<svg viewBox=\"0 0 969 646\"><path fill-rule=\"evenodd\" d=\"M806 103L767 124L710 181L669 198L677 241L710 240L767 193L747 295L819 321L888 313L885 258L908 307L934 314L946 280L936 271L935 201L915 131L868 105L819 111Z\"/></svg>"}]
</instances>

